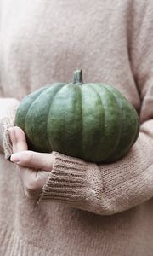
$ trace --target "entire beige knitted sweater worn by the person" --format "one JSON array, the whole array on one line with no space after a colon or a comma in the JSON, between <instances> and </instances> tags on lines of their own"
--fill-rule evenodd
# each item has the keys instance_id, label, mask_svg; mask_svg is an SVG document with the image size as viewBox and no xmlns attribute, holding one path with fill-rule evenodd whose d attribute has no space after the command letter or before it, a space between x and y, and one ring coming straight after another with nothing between
<instances>
[{"instance_id":1,"label":"entire beige knitted sweater worn by the person","mask_svg":"<svg viewBox=\"0 0 153 256\"><path fill-rule=\"evenodd\" d=\"M152 256L153 1L0 0L0 19L0 255ZM55 152L36 204L2 127L23 96L77 68L132 102L139 138L111 165Z\"/></svg>"}]
</instances>

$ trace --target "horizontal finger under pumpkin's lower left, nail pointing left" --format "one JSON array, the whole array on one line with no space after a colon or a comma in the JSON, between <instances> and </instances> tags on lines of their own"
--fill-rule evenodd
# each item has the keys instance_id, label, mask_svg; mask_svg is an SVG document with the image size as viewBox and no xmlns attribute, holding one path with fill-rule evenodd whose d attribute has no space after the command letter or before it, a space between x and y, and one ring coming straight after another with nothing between
<instances>
[{"instance_id":1,"label":"horizontal finger under pumpkin's lower left, nail pointing left","mask_svg":"<svg viewBox=\"0 0 153 256\"><path fill-rule=\"evenodd\" d=\"M54 164L53 154L37 153L30 150L12 154L10 160L20 166L42 169L47 172L52 170Z\"/></svg>"}]
</instances>

